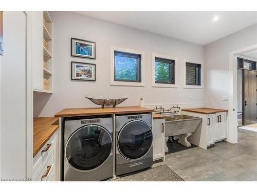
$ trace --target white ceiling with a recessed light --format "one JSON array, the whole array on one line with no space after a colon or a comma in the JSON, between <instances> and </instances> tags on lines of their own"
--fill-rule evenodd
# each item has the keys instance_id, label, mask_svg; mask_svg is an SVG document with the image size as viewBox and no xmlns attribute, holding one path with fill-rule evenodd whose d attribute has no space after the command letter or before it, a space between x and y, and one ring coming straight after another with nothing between
<instances>
[{"instance_id":1,"label":"white ceiling with a recessed light","mask_svg":"<svg viewBox=\"0 0 257 192\"><path fill-rule=\"evenodd\" d=\"M257 11L76 11L199 45L257 23ZM216 21L214 22L214 17Z\"/></svg>"}]
</instances>

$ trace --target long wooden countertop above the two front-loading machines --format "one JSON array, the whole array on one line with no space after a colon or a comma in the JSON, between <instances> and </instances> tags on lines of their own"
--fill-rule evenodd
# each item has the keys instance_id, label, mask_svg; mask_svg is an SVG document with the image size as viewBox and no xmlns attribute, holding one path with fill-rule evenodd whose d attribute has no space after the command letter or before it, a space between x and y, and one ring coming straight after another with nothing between
<instances>
[{"instance_id":1,"label":"long wooden countertop above the two front-loading machines","mask_svg":"<svg viewBox=\"0 0 257 192\"><path fill-rule=\"evenodd\" d=\"M152 109L141 108L140 106L121 106L118 108L71 108L58 112L54 117L78 117L89 115L112 115L130 113L149 113Z\"/></svg>"}]
</instances>

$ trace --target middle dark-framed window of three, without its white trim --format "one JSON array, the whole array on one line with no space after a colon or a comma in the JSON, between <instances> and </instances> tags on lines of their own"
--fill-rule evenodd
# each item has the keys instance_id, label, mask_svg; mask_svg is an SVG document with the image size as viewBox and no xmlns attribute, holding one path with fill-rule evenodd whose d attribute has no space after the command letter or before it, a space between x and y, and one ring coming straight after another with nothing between
<instances>
[{"instance_id":1,"label":"middle dark-framed window of three, without its white trim","mask_svg":"<svg viewBox=\"0 0 257 192\"><path fill-rule=\"evenodd\" d=\"M155 83L175 84L175 60L155 57Z\"/></svg>"}]
</instances>

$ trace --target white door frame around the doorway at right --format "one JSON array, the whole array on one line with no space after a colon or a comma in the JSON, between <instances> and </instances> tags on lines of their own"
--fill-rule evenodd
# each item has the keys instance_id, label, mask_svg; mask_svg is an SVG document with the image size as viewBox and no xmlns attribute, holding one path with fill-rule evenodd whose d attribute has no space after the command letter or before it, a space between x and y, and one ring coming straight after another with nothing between
<instances>
[{"instance_id":1,"label":"white door frame around the doorway at right","mask_svg":"<svg viewBox=\"0 0 257 192\"><path fill-rule=\"evenodd\" d=\"M229 114L227 141L237 143L237 55L257 50L257 44L229 52Z\"/></svg>"}]
</instances>

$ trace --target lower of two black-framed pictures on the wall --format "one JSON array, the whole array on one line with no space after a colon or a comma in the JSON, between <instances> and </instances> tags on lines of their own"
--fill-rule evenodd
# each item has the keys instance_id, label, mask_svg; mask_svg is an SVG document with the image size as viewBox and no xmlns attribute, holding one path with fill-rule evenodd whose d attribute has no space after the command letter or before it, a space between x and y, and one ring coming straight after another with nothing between
<instances>
[{"instance_id":1,"label":"lower of two black-framed pictures on the wall","mask_svg":"<svg viewBox=\"0 0 257 192\"><path fill-rule=\"evenodd\" d=\"M71 61L71 79L96 81L96 64Z\"/></svg>"}]
</instances>

